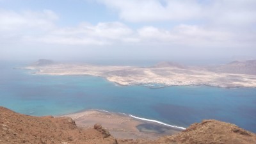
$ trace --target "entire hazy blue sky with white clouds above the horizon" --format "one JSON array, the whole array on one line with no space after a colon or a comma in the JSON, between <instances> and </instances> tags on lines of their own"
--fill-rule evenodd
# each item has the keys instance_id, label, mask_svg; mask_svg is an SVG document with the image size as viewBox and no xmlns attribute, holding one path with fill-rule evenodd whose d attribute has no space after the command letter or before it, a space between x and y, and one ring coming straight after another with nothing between
<instances>
[{"instance_id":1,"label":"entire hazy blue sky with white clouds above the horizon","mask_svg":"<svg viewBox=\"0 0 256 144\"><path fill-rule=\"evenodd\" d=\"M255 0L0 0L0 61L228 61L255 44Z\"/></svg>"}]
</instances>

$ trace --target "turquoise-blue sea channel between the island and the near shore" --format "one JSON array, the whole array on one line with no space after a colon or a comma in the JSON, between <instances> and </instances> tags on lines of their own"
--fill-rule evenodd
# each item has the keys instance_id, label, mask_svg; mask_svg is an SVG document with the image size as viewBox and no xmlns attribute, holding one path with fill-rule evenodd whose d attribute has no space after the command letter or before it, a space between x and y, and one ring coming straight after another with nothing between
<instances>
[{"instance_id":1,"label":"turquoise-blue sea channel between the island and the near shore","mask_svg":"<svg viewBox=\"0 0 256 144\"><path fill-rule=\"evenodd\" d=\"M0 105L26 115L61 115L85 109L127 113L188 127L214 118L256 132L256 89L118 86L102 77L33 75L0 65Z\"/></svg>"}]
</instances>

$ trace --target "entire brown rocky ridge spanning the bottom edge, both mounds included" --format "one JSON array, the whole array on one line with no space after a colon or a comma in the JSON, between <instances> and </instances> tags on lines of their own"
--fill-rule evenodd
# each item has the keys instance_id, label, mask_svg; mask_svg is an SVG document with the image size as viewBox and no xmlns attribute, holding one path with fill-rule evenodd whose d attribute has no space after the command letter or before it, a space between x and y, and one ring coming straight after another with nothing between
<instances>
[{"instance_id":1,"label":"entire brown rocky ridge spanning the bottom edge, both mounds included","mask_svg":"<svg viewBox=\"0 0 256 144\"><path fill-rule=\"evenodd\" d=\"M9 143L256 143L256 135L233 124L204 120L173 136L159 140L116 140L95 124L93 129L78 128L71 118L28 116L0 107L0 144Z\"/></svg>"}]
</instances>

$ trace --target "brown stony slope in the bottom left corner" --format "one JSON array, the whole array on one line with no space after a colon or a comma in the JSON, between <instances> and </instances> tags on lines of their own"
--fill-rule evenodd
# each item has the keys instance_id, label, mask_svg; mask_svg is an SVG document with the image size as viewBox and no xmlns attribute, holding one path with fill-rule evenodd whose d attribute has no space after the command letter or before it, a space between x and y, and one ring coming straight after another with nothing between
<instances>
[{"instance_id":1,"label":"brown stony slope in the bottom left corner","mask_svg":"<svg viewBox=\"0 0 256 144\"><path fill-rule=\"evenodd\" d=\"M116 143L115 138L95 129L79 129L71 118L28 116L0 107L0 143Z\"/></svg>"}]
</instances>

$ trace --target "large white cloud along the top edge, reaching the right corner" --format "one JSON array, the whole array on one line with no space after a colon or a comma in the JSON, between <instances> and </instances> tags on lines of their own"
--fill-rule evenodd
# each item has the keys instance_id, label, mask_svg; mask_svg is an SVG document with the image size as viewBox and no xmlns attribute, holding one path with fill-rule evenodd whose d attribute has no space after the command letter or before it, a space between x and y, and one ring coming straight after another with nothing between
<instances>
[{"instance_id":1,"label":"large white cloud along the top edge, reaching the right corner","mask_svg":"<svg viewBox=\"0 0 256 144\"><path fill-rule=\"evenodd\" d=\"M129 22L202 20L248 26L256 22L255 0L97 0Z\"/></svg>"}]
</instances>

